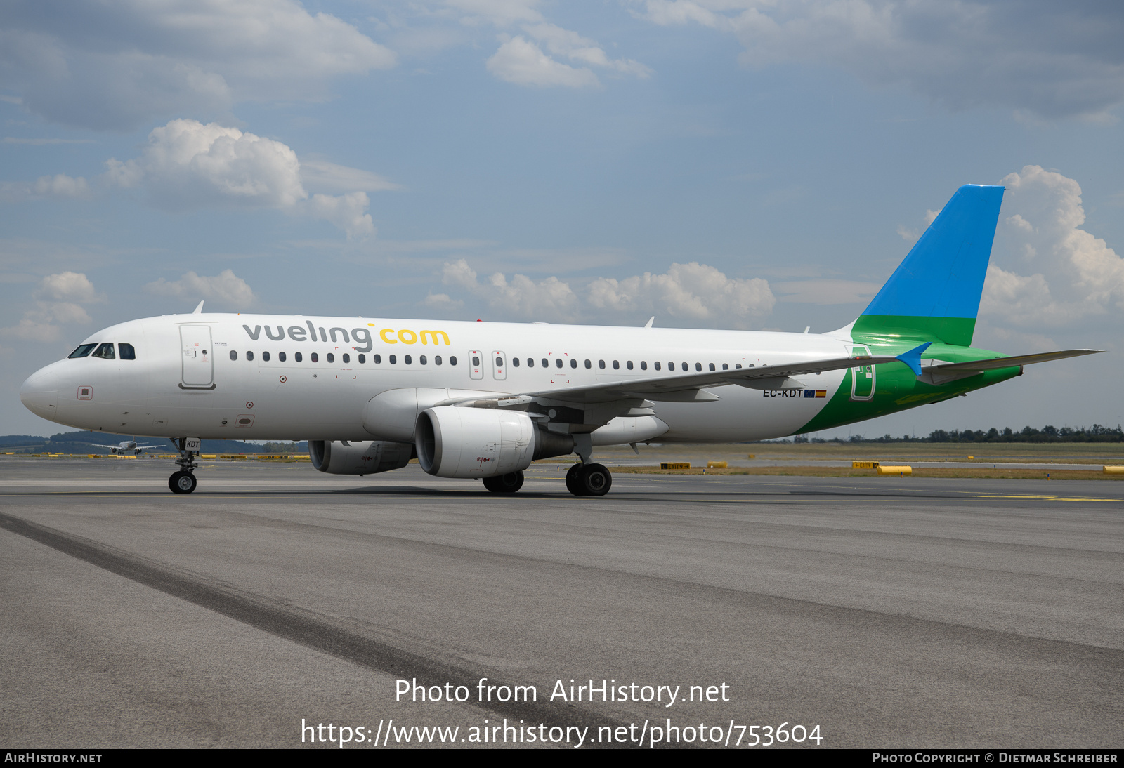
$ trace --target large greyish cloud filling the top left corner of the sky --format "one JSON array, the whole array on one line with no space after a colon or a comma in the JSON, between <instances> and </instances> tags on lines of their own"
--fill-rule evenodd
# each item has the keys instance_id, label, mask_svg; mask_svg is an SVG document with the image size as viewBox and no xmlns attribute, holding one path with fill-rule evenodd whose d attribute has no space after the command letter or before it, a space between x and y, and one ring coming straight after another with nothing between
<instances>
[{"instance_id":1,"label":"large greyish cloud filling the top left corner of the sky","mask_svg":"<svg viewBox=\"0 0 1124 768\"><path fill-rule=\"evenodd\" d=\"M239 101L325 98L395 54L294 0L13 0L0 10L0 84L36 115L127 129Z\"/></svg>"}]
</instances>

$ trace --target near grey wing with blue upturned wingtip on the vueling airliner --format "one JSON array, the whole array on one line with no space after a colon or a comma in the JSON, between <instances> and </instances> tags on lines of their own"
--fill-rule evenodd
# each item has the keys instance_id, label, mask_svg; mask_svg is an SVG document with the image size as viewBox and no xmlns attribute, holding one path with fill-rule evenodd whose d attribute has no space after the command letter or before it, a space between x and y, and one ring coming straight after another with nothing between
<instances>
[{"instance_id":1,"label":"near grey wing with blue upturned wingtip on the vueling airliner","mask_svg":"<svg viewBox=\"0 0 1124 768\"><path fill-rule=\"evenodd\" d=\"M807 385L790 382L791 376L817 374L824 371L840 371L863 365L901 362L910 367L919 364L921 353L927 344L897 357L860 355L856 357L833 357L818 360L801 360L779 365L759 365L732 371L704 371L669 376L631 378L555 390L525 393L531 397L545 397L575 403L606 403L615 400L654 400L664 402L710 402L717 395L706 392L707 386L738 384L760 390L787 390ZM914 359L916 358L916 360ZM812 388L812 387L807 387Z\"/></svg>"}]
</instances>

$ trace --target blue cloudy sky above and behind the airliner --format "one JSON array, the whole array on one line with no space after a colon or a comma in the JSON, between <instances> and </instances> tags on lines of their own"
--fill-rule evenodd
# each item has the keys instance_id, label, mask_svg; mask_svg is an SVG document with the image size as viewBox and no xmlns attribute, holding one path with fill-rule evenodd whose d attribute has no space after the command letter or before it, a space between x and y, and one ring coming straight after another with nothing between
<instances>
[{"instance_id":1,"label":"blue cloudy sky above and behind the airliner","mask_svg":"<svg viewBox=\"0 0 1124 768\"><path fill-rule=\"evenodd\" d=\"M4 3L0 431L56 431L31 371L200 299L830 330L963 183L1008 188L977 346L1108 351L851 430L1115 426L1122 35L1115 2Z\"/></svg>"}]
</instances>

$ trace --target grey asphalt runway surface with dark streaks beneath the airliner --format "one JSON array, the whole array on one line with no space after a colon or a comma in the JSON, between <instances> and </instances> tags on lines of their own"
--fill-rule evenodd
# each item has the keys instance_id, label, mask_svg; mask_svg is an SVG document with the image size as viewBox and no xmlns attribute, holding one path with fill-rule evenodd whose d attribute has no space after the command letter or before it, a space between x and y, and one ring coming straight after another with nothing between
<instances>
[{"instance_id":1,"label":"grey asphalt runway surface with dark streaks beneath the airliner","mask_svg":"<svg viewBox=\"0 0 1124 768\"><path fill-rule=\"evenodd\" d=\"M588 728L582 749L669 720L696 747L782 723L823 747L1121 746L1118 483L617 475L574 499L536 465L501 497L220 463L175 496L170 470L0 460L6 746L291 747L302 720L351 749L415 725L469 746L505 719L555 747ZM396 702L414 678L469 701ZM480 678L537 701L478 702ZM551 701L571 679L629 701ZM658 686L671 706L631 701Z\"/></svg>"}]
</instances>

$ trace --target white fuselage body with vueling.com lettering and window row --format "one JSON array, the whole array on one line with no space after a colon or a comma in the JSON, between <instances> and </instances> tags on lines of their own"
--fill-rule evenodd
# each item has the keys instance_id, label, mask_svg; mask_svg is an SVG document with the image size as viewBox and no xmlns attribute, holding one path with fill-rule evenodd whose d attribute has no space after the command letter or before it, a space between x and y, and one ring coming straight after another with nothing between
<instances>
[{"instance_id":1,"label":"white fuselage body with vueling.com lettering and window row","mask_svg":"<svg viewBox=\"0 0 1124 768\"><path fill-rule=\"evenodd\" d=\"M364 429L363 412L388 390L536 393L669 375L669 366L683 373L685 364L695 372L841 357L851 339L842 332L175 314L112 326L87 342L132 345L136 356L87 356L43 368L21 390L35 413L137 436L362 441L380 437ZM652 409L669 428L658 439L791 435L823 409L845 374L797 377L826 393L819 396L727 385L711 387L715 402L656 402Z\"/></svg>"}]
</instances>

